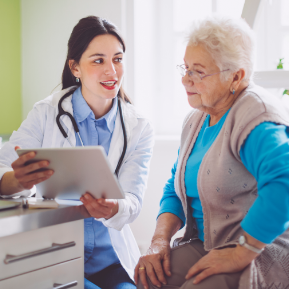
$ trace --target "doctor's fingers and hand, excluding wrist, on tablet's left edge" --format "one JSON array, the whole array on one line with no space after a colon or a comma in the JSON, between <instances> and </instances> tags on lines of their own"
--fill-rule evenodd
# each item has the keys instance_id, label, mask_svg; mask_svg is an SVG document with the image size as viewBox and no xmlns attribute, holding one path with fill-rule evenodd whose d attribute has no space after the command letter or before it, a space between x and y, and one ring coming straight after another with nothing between
<instances>
[{"instance_id":1,"label":"doctor's fingers and hand, excluding wrist, on tablet's left edge","mask_svg":"<svg viewBox=\"0 0 289 289\"><path fill-rule=\"evenodd\" d=\"M15 150L20 147L16 146ZM36 184L39 184L53 175L52 170L37 171L49 165L48 161L38 161L29 165L25 165L28 160L36 156L35 152L30 152L20 156L11 166L14 171L14 177L20 191L30 190Z\"/></svg>"}]
</instances>

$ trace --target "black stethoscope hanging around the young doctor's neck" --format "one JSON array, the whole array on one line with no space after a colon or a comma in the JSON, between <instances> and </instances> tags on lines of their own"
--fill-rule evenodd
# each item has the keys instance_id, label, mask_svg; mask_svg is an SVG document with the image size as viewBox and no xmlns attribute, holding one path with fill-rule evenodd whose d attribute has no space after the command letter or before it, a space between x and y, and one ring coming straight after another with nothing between
<instances>
[{"instance_id":1,"label":"black stethoscope hanging around the young doctor's neck","mask_svg":"<svg viewBox=\"0 0 289 289\"><path fill-rule=\"evenodd\" d=\"M81 142L81 145L84 146L83 145L83 141L82 141L81 136L80 136L80 133L79 133L79 129L78 129L77 123L76 123L74 117L69 112L64 111L62 106L61 106L63 100L65 98L67 98L68 96L70 96L71 94L73 94L74 91L75 91L75 89L67 92L66 94L64 94L61 97L61 99L58 102L58 115L56 117L56 123L57 123L62 135L64 136L64 138L66 138L68 140L68 142L70 143L70 145L72 147L73 147L73 145L72 145L71 141L69 140L67 133L65 132L65 130L63 129L63 127L62 127L62 125L60 123L60 117L63 116L63 115L67 115L70 118L70 120L71 120L71 122L73 124L74 131L77 133L77 135L79 137L79 140ZM118 164L117 164L115 172L114 172L116 174L116 176L118 176L119 169L121 167L121 164L122 164L122 161L124 159L124 155L125 155L125 152L126 152L126 149L127 149L127 136L126 136L126 130L125 130L125 125L124 125L124 121L123 121L123 115L122 115L122 108L121 108L120 99L117 98L117 101L118 101L118 107L119 107L119 114L120 114L120 121L121 121L121 126L122 126L124 144L123 144L122 154L121 154L121 156L119 158Z\"/></svg>"}]
</instances>

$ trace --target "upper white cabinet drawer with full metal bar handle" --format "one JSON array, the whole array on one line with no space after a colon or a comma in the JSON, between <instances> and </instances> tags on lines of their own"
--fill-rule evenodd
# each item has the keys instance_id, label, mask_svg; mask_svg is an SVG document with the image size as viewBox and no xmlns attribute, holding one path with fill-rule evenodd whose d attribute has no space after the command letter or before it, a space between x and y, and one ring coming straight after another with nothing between
<instances>
[{"instance_id":1,"label":"upper white cabinet drawer with full metal bar handle","mask_svg":"<svg viewBox=\"0 0 289 289\"><path fill-rule=\"evenodd\" d=\"M83 220L0 238L0 248L0 280L83 258Z\"/></svg>"}]
</instances>

